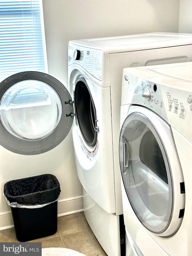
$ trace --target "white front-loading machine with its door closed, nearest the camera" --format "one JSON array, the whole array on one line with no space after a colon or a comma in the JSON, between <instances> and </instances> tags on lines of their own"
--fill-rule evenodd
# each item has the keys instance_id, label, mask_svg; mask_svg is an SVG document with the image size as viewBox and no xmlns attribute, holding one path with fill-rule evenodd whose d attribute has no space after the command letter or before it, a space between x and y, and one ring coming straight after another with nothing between
<instances>
[{"instance_id":1,"label":"white front-loading machine with its door closed, nearest the camera","mask_svg":"<svg viewBox=\"0 0 192 256\"><path fill-rule=\"evenodd\" d=\"M192 62L123 71L119 157L130 255L192 255L191 70Z\"/></svg>"}]
</instances>

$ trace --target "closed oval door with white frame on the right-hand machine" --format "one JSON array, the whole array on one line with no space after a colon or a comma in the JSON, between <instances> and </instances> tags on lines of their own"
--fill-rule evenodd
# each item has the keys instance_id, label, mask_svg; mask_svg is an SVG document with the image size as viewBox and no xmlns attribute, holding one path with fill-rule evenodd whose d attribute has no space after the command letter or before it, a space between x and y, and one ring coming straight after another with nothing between
<instances>
[{"instance_id":1,"label":"closed oval door with white frame on the right-hand machine","mask_svg":"<svg viewBox=\"0 0 192 256\"><path fill-rule=\"evenodd\" d=\"M153 111L134 106L132 110L120 134L123 183L140 222L153 233L167 236L181 225L185 199L173 135Z\"/></svg>"}]
</instances>

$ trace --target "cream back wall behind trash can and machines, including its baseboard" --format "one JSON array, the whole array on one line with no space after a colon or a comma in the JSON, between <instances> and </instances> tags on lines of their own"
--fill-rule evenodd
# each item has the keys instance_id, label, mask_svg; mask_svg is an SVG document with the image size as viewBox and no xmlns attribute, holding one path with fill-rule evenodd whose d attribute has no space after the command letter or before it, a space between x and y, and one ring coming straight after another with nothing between
<instances>
[{"instance_id":1,"label":"cream back wall behind trash can and machines, including its baseboard","mask_svg":"<svg viewBox=\"0 0 192 256\"><path fill-rule=\"evenodd\" d=\"M65 86L69 40L179 29L179 0L43 0L43 8L49 74ZM61 185L59 215L82 210L71 133L41 155L27 158L0 147L0 156L0 229L13 224L2 196L4 183L12 179L54 174Z\"/></svg>"}]
</instances>

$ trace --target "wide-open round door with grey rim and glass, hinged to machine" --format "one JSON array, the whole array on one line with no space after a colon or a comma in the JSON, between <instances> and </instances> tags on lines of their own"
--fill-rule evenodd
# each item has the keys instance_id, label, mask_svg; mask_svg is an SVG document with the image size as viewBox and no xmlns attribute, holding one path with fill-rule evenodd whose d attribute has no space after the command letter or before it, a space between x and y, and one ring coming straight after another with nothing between
<instances>
[{"instance_id":1,"label":"wide-open round door with grey rim and glass, hinged to machine","mask_svg":"<svg viewBox=\"0 0 192 256\"><path fill-rule=\"evenodd\" d=\"M72 98L54 77L36 71L0 83L0 145L23 155L53 149L73 123Z\"/></svg>"}]
</instances>

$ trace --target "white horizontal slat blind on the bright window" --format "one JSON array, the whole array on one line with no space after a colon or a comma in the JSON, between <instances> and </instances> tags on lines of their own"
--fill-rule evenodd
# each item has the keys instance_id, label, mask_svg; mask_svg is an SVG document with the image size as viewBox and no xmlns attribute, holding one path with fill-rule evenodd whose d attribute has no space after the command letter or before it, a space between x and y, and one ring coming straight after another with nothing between
<instances>
[{"instance_id":1,"label":"white horizontal slat blind on the bright window","mask_svg":"<svg viewBox=\"0 0 192 256\"><path fill-rule=\"evenodd\" d=\"M46 70L41 0L0 0L0 80Z\"/></svg>"}]
</instances>

